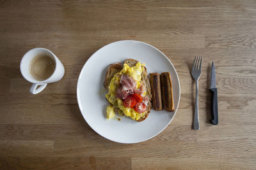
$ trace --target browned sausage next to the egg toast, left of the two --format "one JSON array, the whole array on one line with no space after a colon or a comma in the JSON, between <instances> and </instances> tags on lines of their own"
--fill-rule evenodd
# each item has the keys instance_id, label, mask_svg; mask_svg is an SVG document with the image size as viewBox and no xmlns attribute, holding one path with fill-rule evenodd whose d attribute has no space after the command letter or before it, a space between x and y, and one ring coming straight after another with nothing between
<instances>
[{"instance_id":1,"label":"browned sausage next to the egg toast, left of the two","mask_svg":"<svg viewBox=\"0 0 256 170\"><path fill-rule=\"evenodd\" d=\"M154 110L163 110L162 98L161 98L161 85L160 75L158 73L150 73L150 85L153 98Z\"/></svg>"}]
</instances>

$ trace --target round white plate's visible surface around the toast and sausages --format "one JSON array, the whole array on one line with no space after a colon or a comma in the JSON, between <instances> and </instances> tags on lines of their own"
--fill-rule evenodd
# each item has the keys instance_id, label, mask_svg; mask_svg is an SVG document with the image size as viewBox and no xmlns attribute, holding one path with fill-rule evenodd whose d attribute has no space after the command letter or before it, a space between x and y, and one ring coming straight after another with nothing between
<instances>
[{"instance_id":1,"label":"round white plate's visible surface around the toast and sausages","mask_svg":"<svg viewBox=\"0 0 256 170\"><path fill-rule=\"evenodd\" d=\"M103 81L109 64L125 59L145 63L147 73L170 72L173 85L175 111L150 111L143 122L121 117L108 120ZM111 141L118 143L138 143L153 138L172 121L180 101L180 82L172 62L154 46L140 41L116 41L103 46L86 61L77 82L77 101L81 113L92 129Z\"/></svg>"}]
</instances>

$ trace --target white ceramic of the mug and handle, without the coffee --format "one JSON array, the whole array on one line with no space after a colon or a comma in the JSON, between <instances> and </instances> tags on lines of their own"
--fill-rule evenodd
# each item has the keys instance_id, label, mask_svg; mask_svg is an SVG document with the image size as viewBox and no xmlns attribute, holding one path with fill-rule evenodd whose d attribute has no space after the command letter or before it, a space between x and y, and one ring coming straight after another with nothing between
<instances>
[{"instance_id":1,"label":"white ceramic of the mug and handle, without the coffee","mask_svg":"<svg viewBox=\"0 0 256 170\"><path fill-rule=\"evenodd\" d=\"M36 80L29 71L31 60L36 55L47 55L55 61L54 72L46 80ZM33 85L30 88L31 94L38 94L39 92L45 89L47 83L53 83L61 80L61 78L63 78L64 76L65 69L61 61L58 59L58 57L56 57L56 55L54 55L54 53L52 53L50 50L47 50L45 48L34 48L26 52L25 55L22 57L20 61L20 72L26 80L33 83ZM38 87L38 85L40 85L40 87Z\"/></svg>"}]
</instances>

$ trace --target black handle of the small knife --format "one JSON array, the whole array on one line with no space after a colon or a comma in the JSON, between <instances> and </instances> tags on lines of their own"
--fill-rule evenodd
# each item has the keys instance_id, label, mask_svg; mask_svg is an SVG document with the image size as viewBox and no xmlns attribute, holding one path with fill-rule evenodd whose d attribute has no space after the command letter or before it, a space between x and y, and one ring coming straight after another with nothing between
<instances>
[{"instance_id":1,"label":"black handle of the small knife","mask_svg":"<svg viewBox=\"0 0 256 170\"><path fill-rule=\"evenodd\" d=\"M212 111L212 119L211 123L214 125L218 125L218 95L217 95L217 89L213 88L210 89L212 93L212 101L211 101L211 111Z\"/></svg>"}]
</instances>

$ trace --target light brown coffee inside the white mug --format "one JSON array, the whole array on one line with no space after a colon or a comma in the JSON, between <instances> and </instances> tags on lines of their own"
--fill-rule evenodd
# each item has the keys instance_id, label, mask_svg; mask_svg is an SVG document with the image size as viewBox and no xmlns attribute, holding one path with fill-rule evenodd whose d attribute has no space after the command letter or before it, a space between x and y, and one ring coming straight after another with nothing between
<instances>
[{"instance_id":1,"label":"light brown coffee inside the white mug","mask_svg":"<svg viewBox=\"0 0 256 170\"><path fill-rule=\"evenodd\" d=\"M38 81L49 78L55 69L55 61L48 55L36 55L30 62L30 74Z\"/></svg>"}]
</instances>

